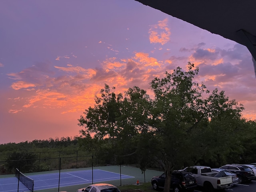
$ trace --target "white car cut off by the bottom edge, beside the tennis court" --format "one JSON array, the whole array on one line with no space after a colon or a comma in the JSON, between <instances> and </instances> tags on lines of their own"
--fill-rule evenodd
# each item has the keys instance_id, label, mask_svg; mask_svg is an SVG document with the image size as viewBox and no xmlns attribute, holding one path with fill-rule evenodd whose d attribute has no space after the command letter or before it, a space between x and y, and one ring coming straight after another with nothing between
<instances>
[{"instance_id":1,"label":"white car cut off by the bottom edge, beside the tennis court","mask_svg":"<svg viewBox=\"0 0 256 192\"><path fill-rule=\"evenodd\" d=\"M76 192L120 192L120 190L112 184L98 183L78 189Z\"/></svg>"}]
</instances>

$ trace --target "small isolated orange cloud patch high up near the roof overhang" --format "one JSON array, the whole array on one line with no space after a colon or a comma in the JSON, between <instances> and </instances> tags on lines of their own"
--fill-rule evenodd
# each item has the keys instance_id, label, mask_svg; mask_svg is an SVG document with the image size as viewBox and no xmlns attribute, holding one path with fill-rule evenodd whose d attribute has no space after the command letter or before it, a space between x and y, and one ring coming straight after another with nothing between
<instances>
[{"instance_id":1,"label":"small isolated orange cloud patch high up near the roof overhang","mask_svg":"<svg viewBox=\"0 0 256 192\"><path fill-rule=\"evenodd\" d=\"M152 25L149 29L150 43L166 44L170 40L170 28L167 25L168 19L158 21L158 24Z\"/></svg>"}]
</instances>

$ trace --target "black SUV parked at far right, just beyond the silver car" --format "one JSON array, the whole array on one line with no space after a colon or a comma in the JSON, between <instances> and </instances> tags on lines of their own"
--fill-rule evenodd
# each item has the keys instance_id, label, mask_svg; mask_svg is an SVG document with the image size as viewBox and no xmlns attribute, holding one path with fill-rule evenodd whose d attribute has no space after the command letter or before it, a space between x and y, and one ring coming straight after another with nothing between
<instances>
[{"instance_id":1,"label":"black SUV parked at far right, just beyond the silver car","mask_svg":"<svg viewBox=\"0 0 256 192\"><path fill-rule=\"evenodd\" d=\"M229 170L232 173L235 173L238 177L239 183L241 182L249 182L255 179L254 172L252 169L245 165L240 164L228 164L220 167L222 169Z\"/></svg>"}]
</instances>

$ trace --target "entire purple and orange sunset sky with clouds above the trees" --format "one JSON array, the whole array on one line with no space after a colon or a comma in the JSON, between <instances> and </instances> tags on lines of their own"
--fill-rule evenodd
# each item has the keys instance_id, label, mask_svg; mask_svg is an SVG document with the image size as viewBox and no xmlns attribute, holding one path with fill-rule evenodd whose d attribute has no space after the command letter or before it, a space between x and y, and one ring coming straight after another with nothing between
<instances>
[{"instance_id":1,"label":"entire purple and orange sunset sky with clouds above the trees","mask_svg":"<svg viewBox=\"0 0 256 192\"><path fill-rule=\"evenodd\" d=\"M245 46L135 0L1 0L0 144L79 136L78 118L105 83L148 90L188 62L196 81L256 119Z\"/></svg>"}]
</instances>

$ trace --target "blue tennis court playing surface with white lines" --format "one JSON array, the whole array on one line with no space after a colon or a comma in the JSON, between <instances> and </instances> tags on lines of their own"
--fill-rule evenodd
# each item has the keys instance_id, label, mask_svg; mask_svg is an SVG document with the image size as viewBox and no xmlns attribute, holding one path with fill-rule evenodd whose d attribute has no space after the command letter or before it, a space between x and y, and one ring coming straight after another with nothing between
<instances>
[{"instance_id":1,"label":"blue tennis court playing surface with white lines","mask_svg":"<svg viewBox=\"0 0 256 192\"><path fill-rule=\"evenodd\" d=\"M92 170L81 170L72 172L60 172L51 174L30 175L29 178L34 180L34 191L50 188L58 188L60 176L60 187L79 185L79 184L92 184ZM110 180L134 178L133 176L123 175L104 171L100 169L93 170L93 182L106 182ZM17 192L18 179L2 178L0 179L0 192ZM29 192L21 182L19 184L19 192Z\"/></svg>"}]
</instances>

